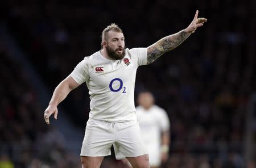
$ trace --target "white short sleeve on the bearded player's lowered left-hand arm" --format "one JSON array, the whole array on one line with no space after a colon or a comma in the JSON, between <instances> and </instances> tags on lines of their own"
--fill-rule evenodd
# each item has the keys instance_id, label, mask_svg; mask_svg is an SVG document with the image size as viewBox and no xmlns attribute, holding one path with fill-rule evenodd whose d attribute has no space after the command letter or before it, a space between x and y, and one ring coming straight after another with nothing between
<instances>
[{"instance_id":1,"label":"white short sleeve on the bearded player's lowered left-hand arm","mask_svg":"<svg viewBox=\"0 0 256 168\"><path fill-rule=\"evenodd\" d=\"M80 85L89 79L88 61L82 60L70 74L71 77Z\"/></svg>"}]
</instances>

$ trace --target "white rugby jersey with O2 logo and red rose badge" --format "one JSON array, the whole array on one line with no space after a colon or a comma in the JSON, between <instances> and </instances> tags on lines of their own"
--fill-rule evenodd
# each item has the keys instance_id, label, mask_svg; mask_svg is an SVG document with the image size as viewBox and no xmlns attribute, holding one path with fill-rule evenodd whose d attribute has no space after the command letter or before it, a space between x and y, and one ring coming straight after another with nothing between
<instances>
[{"instance_id":1,"label":"white rugby jersey with O2 logo and red rose badge","mask_svg":"<svg viewBox=\"0 0 256 168\"><path fill-rule=\"evenodd\" d=\"M121 122L136 120L134 86L137 68L147 64L147 48L126 49L122 60L109 60L100 51L85 57L71 73L90 94L89 117Z\"/></svg>"}]
</instances>

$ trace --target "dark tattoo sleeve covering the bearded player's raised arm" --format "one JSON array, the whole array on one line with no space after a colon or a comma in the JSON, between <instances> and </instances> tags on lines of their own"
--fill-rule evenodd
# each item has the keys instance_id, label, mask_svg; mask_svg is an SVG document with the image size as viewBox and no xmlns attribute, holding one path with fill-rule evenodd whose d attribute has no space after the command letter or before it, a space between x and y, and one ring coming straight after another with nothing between
<instances>
[{"instance_id":1,"label":"dark tattoo sleeve covering the bearded player's raised arm","mask_svg":"<svg viewBox=\"0 0 256 168\"><path fill-rule=\"evenodd\" d=\"M162 54L171 51L179 46L191 33L187 33L184 30L175 33L174 35L163 37L163 39L157 41L155 44L147 48L147 64L151 64Z\"/></svg>"}]
</instances>

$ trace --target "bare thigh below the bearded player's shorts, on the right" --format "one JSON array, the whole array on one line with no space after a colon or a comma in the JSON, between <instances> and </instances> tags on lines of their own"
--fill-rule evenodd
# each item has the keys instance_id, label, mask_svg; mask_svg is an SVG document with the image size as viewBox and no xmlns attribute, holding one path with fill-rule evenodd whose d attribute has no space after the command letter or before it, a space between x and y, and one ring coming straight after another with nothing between
<instances>
[{"instance_id":1,"label":"bare thigh below the bearded player's shorts, on the right","mask_svg":"<svg viewBox=\"0 0 256 168\"><path fill-rule=\"evenodd\" d=\"M128 161L131 163L133 168L150 168L148 162L148 154L137 157L127 157Z\"/></svg>"}]
</instances>

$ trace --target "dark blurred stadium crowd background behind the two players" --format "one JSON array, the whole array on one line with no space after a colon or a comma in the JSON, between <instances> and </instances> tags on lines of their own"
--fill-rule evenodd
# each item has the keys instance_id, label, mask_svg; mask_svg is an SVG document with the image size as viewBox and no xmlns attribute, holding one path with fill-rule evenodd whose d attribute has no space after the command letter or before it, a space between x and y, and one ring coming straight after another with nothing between
<instances>
[{"instance_id":1,"label":"dark blurred stadium crowd background behind the two players","mask_svg":"<svg viewBox=\"0 0 256 168\"><path fill-rule=\"evenodd\" d=\"M187 41L141 66L135 102L150 90L171 120L162 167L255 167L256 1L1 1L0 167L81 167L89 115L85 83L46 125L55 87L101 48L117 23L126 47L148 47L186 28L196 10L208 22ZM121 167L112 156L101 167Z\"/></svg>"}]
</instances>

